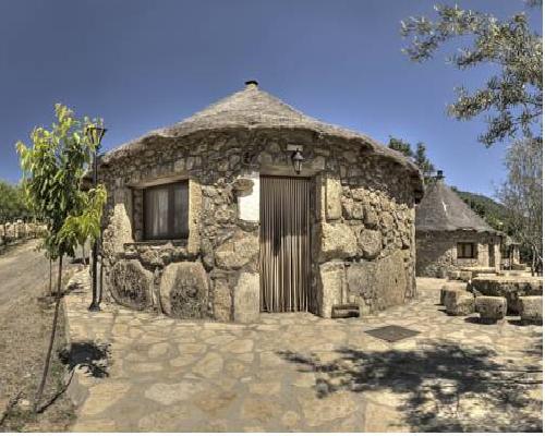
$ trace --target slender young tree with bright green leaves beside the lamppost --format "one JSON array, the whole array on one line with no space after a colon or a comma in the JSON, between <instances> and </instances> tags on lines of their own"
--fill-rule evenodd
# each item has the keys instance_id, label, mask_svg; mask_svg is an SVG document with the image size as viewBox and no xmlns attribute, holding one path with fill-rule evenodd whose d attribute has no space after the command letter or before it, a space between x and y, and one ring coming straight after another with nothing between
<instances>
[{"instance_id":1,"label":"slender young tree with bright green leaves beside the lamppost","mask_svg":"<svg viewBox=\"0 0 545 436\"><path fill-rule=\"evenodd\" d=\"M102 185L82 190L83 175L90 164L93 144L84 130L92 123L88 118L77 120L65 106L56 105L56 122L51 130L35 128L31 133L32 147L16 144L23 169L23 189L27 202L47 226L43 246L51 259L59 259L55 316L51 337L44 365L41 382L36 393L36 411L44 392L51 351L57 331L61 301L62 259L74 255L81 232L97 238L106 199ZM93 121L100 122L100 121Z\"/></svg>"}]
</instances>

